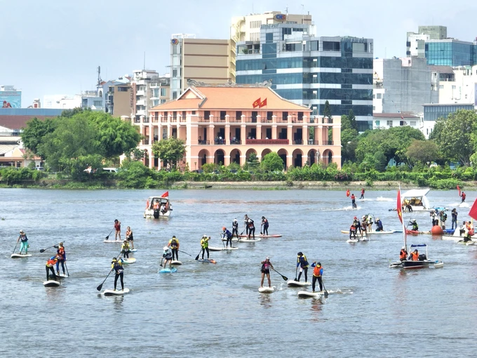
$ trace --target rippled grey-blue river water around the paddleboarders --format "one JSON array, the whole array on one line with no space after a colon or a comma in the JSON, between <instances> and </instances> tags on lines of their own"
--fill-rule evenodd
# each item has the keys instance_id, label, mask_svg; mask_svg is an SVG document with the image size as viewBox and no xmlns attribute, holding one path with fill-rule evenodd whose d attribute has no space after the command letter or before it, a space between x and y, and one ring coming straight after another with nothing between
<instances>
[{"instance_id":1,"label":"rippled grey-blue river water around the paddleboarders","mask_svg":"<svg viewBox=\"0 0 477 358\"><path fill-rule=\"evenodd\" d=\"M368 191L358 210L343 191L170 190L173 216L145 220L155 190L0 190L0 300L2 357L473 357L477 349L477 247L421 235L408 244L429 244L441 269L389 269L398 259L402 234L375 235L347 244L354 215L379 216L399 229L396 191ZM357 194L357 193L356 193ZM467 218L477 196L431 191L431 204L457 207ZM202 234L221 246L222 226L247 213L260 231L260 217L278 239L238 244L231 253L211 253L216 265L197 263ZM448 213L450 223L450 212ZM119 244L104 244L114 219L133 228L137 262L125 269L131 290L105 297L96 287L109 272ZM415 213L419 228L431 219ZM407 220L408 217L405 217ZM11 259L19 230L29 237L31 258ZM175 234L184 265L158 274L162 247ZM114 237L114 233L112 234ZM65 241L71 277L57 289L43 287L45 263ZM18 248L17 248L18 251ZM260 261L269 256L278 272L295 277L297 251L323 265L330 296L297 298L276 273L278 291L258 293ZM311 270L309 273L311 277ZM311 279L309 279L311 281ZM110 276L103 289L112 289Z\"/></svg>"}]
</instances>

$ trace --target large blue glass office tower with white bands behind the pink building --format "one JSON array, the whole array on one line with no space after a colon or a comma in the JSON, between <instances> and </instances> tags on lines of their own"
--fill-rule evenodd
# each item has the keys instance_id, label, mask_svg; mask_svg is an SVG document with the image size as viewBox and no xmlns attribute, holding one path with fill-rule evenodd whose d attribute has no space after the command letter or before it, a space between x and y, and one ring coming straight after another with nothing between
<instances>
[{"instance_id":1,"label":"large blue glass office tower with white bands behind the pink building","mask_svg":"<svg viewBox=\"0 0 477 358\"><path fill-rule=\"evenodd\" d=\"M353 110L359 131L372 128L372 39L315 37L313 26L262 25L260 41L237 44L236 82L271 79L279 95L323 115Z\"/></svg>"}]
</instances>

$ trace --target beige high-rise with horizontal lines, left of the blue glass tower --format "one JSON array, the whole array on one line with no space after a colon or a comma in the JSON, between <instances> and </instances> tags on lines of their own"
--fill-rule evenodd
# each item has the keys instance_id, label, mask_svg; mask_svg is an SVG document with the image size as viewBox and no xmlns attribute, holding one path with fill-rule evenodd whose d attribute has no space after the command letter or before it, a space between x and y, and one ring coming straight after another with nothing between
<instances>
[{"instance_id":1,"label":"beige high-rise with horizontal lines, left of the blue glass tower","mask_svg":"<svg viewBox=\"0 0 477 358\"><path fill-rule=\"evenodd\" d=\"M173 34L170 40L170 99L187 88L187 79L204 84L235 81L235 42Z\"/></svg>"}]
</instances>

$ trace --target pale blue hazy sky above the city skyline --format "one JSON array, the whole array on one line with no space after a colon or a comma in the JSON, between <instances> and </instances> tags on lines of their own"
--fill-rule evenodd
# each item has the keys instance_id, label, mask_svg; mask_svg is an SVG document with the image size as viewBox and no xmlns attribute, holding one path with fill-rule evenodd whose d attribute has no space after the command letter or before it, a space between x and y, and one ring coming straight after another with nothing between
<instances>
[{"instance_id":1,"label":"pale blue hazy sky above the city skyline","mask_svg":"<svg viewBox=\"0 0 477 358\"><path fill-rule=\"evenodd\" d=\"M455 5L453 5L455 4ZM405 56L406 32L448 27L477 37L477 1L462 0L0 0L0 85L22 91L22 107L43 95L95 89L134 69L169 72L171 34L228 39L231 18L249 13L310 13L317 36L374 39L374 56Z\"/></svg>"}]
</instances>

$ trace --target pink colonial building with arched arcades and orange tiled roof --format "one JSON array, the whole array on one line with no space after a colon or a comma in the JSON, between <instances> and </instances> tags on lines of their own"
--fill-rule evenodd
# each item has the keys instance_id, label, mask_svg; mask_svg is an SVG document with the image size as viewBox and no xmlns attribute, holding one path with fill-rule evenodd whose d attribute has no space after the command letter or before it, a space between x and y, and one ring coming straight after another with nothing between
<instances>
[{"instance_id":1,"label":"pink colonial building with arched arcades and orange tiled roof","mask_svg":"<svg viewBox=\"0 0 477 358\"><path fill-rule=\"evenodd\" d=\"M206 163L243 166L250 154L261 160L269 152L277 152L287 168L316 162L341 166L340 117L311 116L309 108L267 86L191 86L149 112L136 125L145 137L139 148L150 168L161 168L152 144L170 137L184 140L182 166L191 171Z\"/></svg>"}]
</instances>

